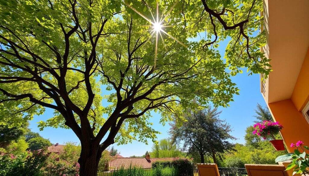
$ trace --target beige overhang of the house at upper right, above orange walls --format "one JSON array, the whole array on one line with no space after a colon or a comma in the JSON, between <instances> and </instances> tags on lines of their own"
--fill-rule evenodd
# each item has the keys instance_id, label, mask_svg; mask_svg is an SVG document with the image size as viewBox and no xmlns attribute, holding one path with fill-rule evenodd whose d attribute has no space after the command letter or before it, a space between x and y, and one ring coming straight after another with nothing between
<instances>
[{"instance_id":1,"label":"beige overhang of the house at upper right, above orange walls","mask_svg":"<svg viewBox=\"0 0 309 176\"><path fill-rule=\"evenodd\" d=\"M261 83L266 103L289 99L309 47L309 0L264 0L266 46L273 72Z\"/></svg>"}]
</instances>

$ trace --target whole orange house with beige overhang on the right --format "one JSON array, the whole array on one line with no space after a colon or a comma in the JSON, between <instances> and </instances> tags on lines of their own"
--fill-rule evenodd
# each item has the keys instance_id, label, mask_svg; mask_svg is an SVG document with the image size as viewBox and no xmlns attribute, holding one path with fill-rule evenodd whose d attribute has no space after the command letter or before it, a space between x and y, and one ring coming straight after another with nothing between
<instances>
[{"instance_id":1,"label":"whole orange house with beige overhang on the right","mask_svg":"<svg viewBox=\"0 0 309 176\"><path fill-rule=\"evenodd\" d=\"M264 0L265 52L272 66L261 93L289 152L309 145L309 1Z\"/></svg>"}]
</instances>

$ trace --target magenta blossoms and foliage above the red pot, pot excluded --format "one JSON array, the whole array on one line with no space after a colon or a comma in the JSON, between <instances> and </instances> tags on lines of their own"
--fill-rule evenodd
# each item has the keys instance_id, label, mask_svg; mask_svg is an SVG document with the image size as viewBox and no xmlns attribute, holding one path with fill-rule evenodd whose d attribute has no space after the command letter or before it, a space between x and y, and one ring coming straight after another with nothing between
<instances>
[{"instance_id":1,"label":"magenta blossoms and foliage above the red pot, pot excluded","mask_svg":"<svg viewBox=\"0 0 309 176\"><path fill-rule=\"evenodd\" d=\"M256 123L253 125L254 131L252 134L263 137L263 139L276 140L274 135L278 134L283 126L279 122L263 121L262 123Z\"/></svg>"}]
</instances>

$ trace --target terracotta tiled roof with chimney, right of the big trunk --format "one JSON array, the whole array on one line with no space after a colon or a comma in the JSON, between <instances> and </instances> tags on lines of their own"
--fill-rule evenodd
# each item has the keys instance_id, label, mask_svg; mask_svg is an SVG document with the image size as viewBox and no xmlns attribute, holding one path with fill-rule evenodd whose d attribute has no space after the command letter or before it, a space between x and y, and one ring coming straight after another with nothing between
<instances>
[{"instance_id":1,"label":"terracotta tiled roof with chimney, right of the big trunk","mask_svg":"<svg viewBox=\"0 0 309 176\"><path fill-rule=\"evenodd\" d=\"M150 169L151 163L157 160L172 160L173 158L150 158L147 160L146 158L113 158L108 162L109 171L120 169L122 166L126 169L129 168L130 165L142 167L143 169Z\"/></svg>"}]
</instances>

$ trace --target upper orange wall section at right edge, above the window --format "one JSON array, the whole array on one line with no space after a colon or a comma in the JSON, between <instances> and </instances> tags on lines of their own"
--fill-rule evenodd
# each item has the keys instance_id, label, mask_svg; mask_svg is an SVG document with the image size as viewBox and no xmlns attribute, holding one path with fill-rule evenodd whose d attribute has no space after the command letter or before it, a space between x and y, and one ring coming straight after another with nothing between
<instances>
[{"instance_id":1,"label":"upper orange wall section at right edge, above the window","mask_svg":"<svg viewBox=\"0 0 309 176\"><path fill-rule=\"evenodd\" d=\"M291 100L298 111L301 111L309 100L309 48L299 72Z\"/></svg>"}]
</instances>

